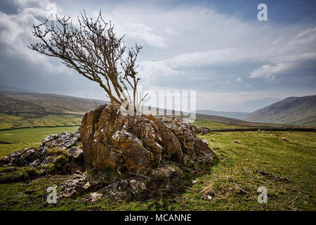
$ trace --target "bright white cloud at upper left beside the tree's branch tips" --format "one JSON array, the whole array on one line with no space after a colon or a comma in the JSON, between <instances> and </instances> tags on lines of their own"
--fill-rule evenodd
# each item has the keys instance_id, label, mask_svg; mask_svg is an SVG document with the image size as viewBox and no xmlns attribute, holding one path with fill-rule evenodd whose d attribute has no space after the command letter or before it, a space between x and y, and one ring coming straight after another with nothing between
<instances>
[{"instance_id":1,"label":"bright white cloud at upper left beside the tree's branch tips","mask_svg":"<svg viewBox=\"0 0 316 225\"><path fill-rule=\"evenodd\" d=\"M6 14L0 11L0 43L6 46L6 54L24 58L29 63L44 66L48 70L62 70L62 67L56 68L48 57L27 48L29 44L37 42L32 36L32 25L43 23L44 18L55 14L57 11L55 4L46 0L18 0L16 3L20 6L18 14ZM31 7L29 4L35 4L39 8Z\"/></svg>"}]
</instances>

